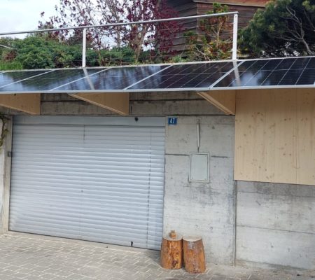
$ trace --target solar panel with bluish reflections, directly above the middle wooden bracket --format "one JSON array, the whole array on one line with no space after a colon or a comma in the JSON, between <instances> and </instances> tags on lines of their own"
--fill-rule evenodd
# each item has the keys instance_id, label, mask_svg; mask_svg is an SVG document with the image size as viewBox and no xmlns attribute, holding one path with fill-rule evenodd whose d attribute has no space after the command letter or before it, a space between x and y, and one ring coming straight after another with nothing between
<instances>
[{"instance_id":1,"label":"solar panel with bluish reflections, directly above the middle wooden bracket","mask_svg":"<svg viewBox=\"0 0 315 280\"><path fill-rule=\"evenodd\" d=\"M111 68L68 85L55 88L57 91L80 91L80 90L123 90L134 83L147 78L167 66L132 66Z\"/></svg>"}]
</instances>

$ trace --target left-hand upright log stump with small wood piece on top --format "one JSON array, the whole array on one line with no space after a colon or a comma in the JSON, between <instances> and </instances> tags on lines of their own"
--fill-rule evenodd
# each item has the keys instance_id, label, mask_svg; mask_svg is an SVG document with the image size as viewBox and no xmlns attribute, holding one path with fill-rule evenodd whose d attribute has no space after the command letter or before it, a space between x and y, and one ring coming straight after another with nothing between
<instances>
[{"instance_id":1,"label":"left-hand upright log stump with small wood piece on top","mask_svg":"<svg viewBox=\"0 0 315 280\"><path fill-rule=\"evenodd\" d=\"M174 235L172 235L174 237ZM161 266L166 269L180 269L183 266L183 237L165 236L161 245Z\"/></svg>"}]
</instances>

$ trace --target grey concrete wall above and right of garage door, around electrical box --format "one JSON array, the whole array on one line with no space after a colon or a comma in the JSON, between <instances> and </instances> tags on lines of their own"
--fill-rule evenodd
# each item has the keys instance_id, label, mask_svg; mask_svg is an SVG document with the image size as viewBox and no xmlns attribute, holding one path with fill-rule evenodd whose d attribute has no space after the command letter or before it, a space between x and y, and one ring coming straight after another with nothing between
<instances>
[{"instance_id":1,"label":"grey concrete wall above and right of garage door, around electrical box","mask_svg":"<svg viewBox=\"0 0 315 280\"><path fill-rule=\"evenodd\" d=\"M18 113L5 111L6 113ZM42 94L42 115L106 116L110 111L67 94ZM178 116L167 127L164 232L201 235L208 262L234 262L235 193L233 174L235 118L224 116L191 92L133 93L131 116ZM201 123L200 151L210 153L210 182L189 183L189 153L197 151L196 123Z\"/></svg>"}]
</instances>

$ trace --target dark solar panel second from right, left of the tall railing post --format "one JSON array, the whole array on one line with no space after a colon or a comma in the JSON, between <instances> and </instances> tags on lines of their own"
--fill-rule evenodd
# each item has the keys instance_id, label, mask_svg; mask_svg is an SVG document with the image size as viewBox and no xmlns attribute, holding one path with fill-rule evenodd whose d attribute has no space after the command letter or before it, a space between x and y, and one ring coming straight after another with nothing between
<instances>
[{"instance_id":1,"label":"dark solar panel second from right, left of the tall railing post","mask_svg":"<svg viewBox=\"0 0 315 280\"><path fill-rule=\"evenodd\" d=\"M127 89L137 91L209 88L218 78L221 78L235 66L237 66L237 64L233 62L173 65L165 71L157 73Z\"/></svg>"}]
</instances>

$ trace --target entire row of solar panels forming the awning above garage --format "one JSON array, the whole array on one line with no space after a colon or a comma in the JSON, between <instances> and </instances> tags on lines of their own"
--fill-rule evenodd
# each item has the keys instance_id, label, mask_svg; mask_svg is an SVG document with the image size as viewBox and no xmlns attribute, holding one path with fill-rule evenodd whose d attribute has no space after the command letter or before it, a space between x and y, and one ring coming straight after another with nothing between
<instances>
[{"instance_id":1,"label":"entire row of solar panels forming the awning above garage","mask_svg":"<svg viewBox=\"0 0 315 280\"><path fill-rule=\"evenodd\" d=\"M0 93L315 87L315 57L0 72Z\"/></svg>"}]
</instances>

